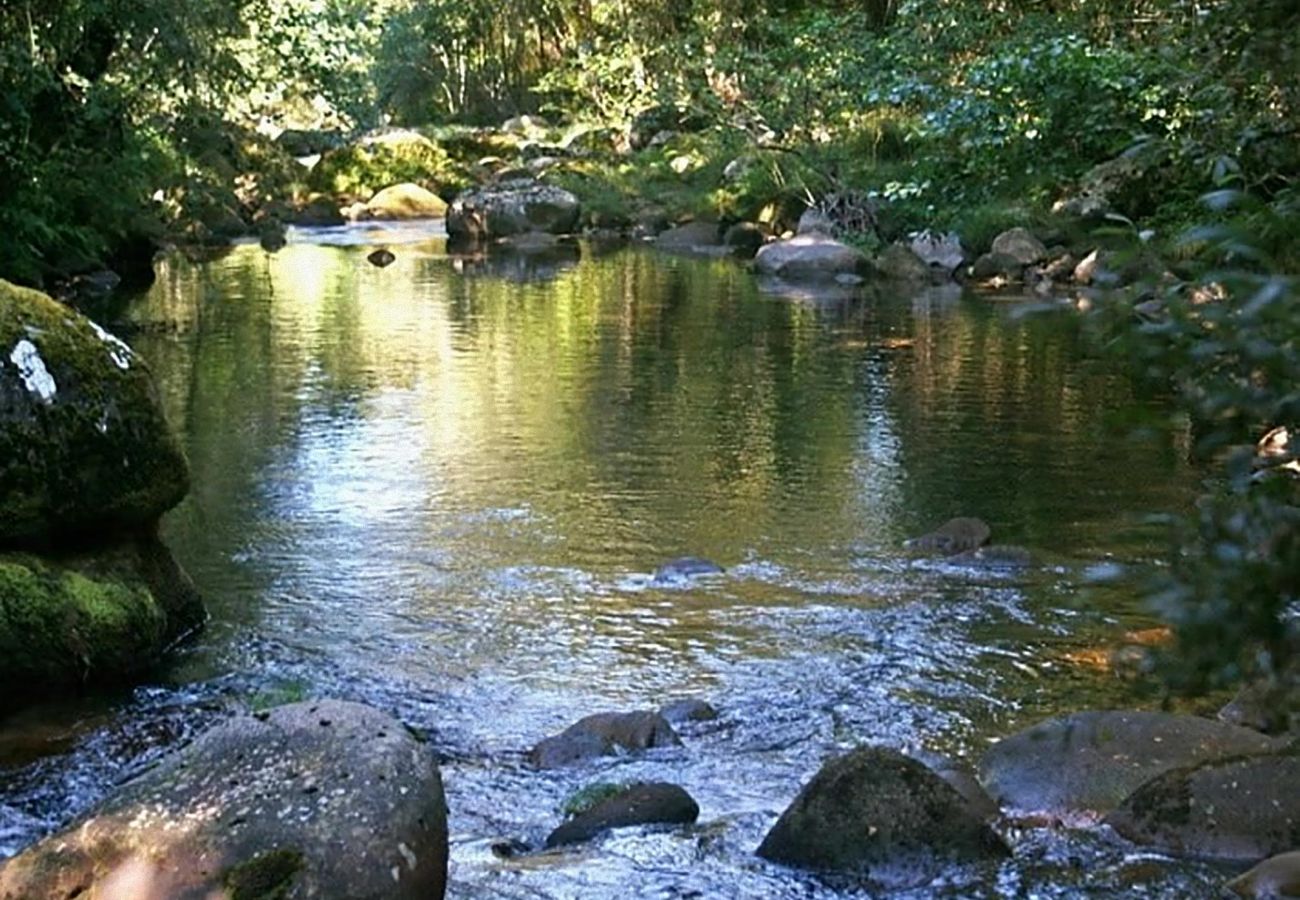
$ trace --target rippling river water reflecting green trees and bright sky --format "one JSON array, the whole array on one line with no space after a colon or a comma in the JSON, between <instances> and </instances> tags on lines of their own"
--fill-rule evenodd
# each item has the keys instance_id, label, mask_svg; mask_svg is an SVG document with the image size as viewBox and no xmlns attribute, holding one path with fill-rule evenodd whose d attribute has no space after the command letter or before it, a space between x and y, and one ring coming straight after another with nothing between
<instances>
[{"instance_id":1,"label":"rippling river water reflecting green trees and bright sky","mask_svg":"<svg viewBox=\"0 0 1300 900\"><path fill-rule=\"evenodd\" d=\"M396 263L365 261L384 242ZM828 754L978 758L1063 710L1141 705L1080 653L1152 624L1149 514L1197 473L1080 351L1070 315L959 290L790 299L641 248L476 259L422 226L299 232L165 260L105 324L152 364L194 471L165 536L207 632L150 685L0 722L0 854L233 710L339 696L443 760L455 897L818 897L753 854ZM956 515L1037 564L915 559ZM720 576L660 584L702 555ZM589 713L708 700L684 747L537 773ZM670 780L701 823L566 853L573 789ZM906 896L1217 895L1104 831Z\"/></svg>"}]
</instances>

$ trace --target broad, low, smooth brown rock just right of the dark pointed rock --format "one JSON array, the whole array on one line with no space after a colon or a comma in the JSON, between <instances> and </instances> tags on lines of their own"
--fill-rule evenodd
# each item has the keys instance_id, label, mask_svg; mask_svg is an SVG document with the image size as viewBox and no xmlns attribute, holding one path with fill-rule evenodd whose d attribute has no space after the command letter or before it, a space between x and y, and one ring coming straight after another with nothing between
<instances>
[{"instance_id":1,"label":"broad, low, smooth brown rock just right of the dark pointed rock","mask_svg":"<svg viewBox=\"0 0 1300 900\"><path fill-rule=\"evenodd\" d=\"M1000 740L979 770L1004 809L1092 819L1170 769L1277 748L1258 732L1195 715L1088 711Z\"/></svg>"}]
</instances>

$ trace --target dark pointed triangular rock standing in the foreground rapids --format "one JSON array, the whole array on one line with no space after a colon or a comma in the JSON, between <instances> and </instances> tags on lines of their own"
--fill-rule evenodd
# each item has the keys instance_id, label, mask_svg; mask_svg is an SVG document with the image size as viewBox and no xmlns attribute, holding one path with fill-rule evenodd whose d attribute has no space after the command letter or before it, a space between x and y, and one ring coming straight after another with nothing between
<instances>
[{"instance_id":1,"label":"dark pointed triangular rock standing in the foreground rapids","mask_svg":"<svg viewBox=\"0 0 1300 900\"><path fill-rule=\"evenodd\" d=\"M931 880L949 864L1004 856L1006 847L923 763L867 747L822 766L758 854L898 888Z\"/></svg>"}]
</instances>

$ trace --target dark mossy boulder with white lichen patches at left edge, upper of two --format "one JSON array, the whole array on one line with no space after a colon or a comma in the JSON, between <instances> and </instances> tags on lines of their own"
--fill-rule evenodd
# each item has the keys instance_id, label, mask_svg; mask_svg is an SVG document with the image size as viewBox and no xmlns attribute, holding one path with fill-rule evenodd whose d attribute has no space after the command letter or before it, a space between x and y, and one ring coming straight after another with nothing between
<instances>
[{"instance_id":1,"label":"dark mossy boulder with white lichen patches at left edge, upper of two","mask_svg":"<svg viewBox=\"0 0 1300 900\"><path fill-rule=\"evenodd\" d=\"M187 489L144 360L0 281L0 546L148 528Z\"/></svg>"}]
</instances>

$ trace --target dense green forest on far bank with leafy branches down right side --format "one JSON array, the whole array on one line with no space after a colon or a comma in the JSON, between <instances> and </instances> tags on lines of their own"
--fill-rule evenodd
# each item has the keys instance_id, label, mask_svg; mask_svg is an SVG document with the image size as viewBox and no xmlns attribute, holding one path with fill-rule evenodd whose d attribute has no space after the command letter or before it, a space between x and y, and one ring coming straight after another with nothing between
<instances>
[{"instance_id":1,"label":"dense green forest on far bank with leafy branches down right side","mask_svg":"<svg viewBox=\"0 0 1300 900\"><path fill-rule=\"evenodd\" d=\"M1134 326L1130 303L1098 325L1226 459L1158 594L1179 658L1193 684L1275 671L1296 641L1295 498L1227 449L1300 430L1296 34L1291 0L14 0L0 276L124 271L313 190L454 192L494 150L463 126L517 113L588 150L552 178L592 225L628 225L646 196L670 220L783 225L836 191L871 200L863 241L952 228L979 251L1011 225L1100 225L1176 278L1149 286L1157 321ZM311 174L272 140L384 125L432 140ZM1112 160L1106 217L1053 217Z\"/></svg>"}]
</instances>

